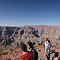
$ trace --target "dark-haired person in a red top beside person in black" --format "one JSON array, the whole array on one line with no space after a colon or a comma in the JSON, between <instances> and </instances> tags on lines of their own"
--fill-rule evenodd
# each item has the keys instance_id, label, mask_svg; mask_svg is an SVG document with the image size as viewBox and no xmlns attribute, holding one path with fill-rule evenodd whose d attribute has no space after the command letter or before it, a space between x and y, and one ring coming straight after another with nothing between
<instances>
[{"instance_id":1,"label":"dark-haired person in a red top beside person in black","mask_svg":"<svg viewBox=\"0 0 60 60\"><path fill-rule=\"evenodd\" d=\"M20 60L31 60L31 53L27 51L27 46L25 44L21 44L22 54L20 56Z\"/></svg>"}]
</instances>

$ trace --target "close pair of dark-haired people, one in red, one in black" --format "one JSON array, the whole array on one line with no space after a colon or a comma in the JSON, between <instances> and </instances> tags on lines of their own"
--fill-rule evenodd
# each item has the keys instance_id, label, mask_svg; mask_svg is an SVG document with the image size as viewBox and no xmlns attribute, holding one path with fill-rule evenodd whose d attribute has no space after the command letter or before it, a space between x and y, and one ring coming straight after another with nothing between
<instances>
[{"instance_id":1,"label":"close pair of dark-haired people, one in red, one in black","mask_svg":"<svg viewBox=\"0 0 60 60\"><path fill-rule=\"evenodd\" d=\"M20 60L38 60L38 52L34 49L32 42L28 42L27 46L22 43L21 49Z\"/></svg>"}]
</instances>

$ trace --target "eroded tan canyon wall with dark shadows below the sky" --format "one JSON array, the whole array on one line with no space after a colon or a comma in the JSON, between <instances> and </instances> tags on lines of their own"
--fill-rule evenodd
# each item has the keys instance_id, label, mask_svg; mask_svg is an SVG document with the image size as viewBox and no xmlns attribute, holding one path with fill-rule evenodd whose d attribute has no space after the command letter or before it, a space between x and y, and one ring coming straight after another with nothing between
<instances>
[{"instance_id":1,"label":"eroded tan canyon wall with dark shadows below the sky","mask_svg":"<svg viewBox=\"0 0 60 60\"><path fill-rule=\"evenodd\" d=\"M0 49L14 49L21 42L33 42L40 45L49 37L52 44L60 36L60 26L24 26L2 27L0 26Z\"/></svg>"}]
</instances>

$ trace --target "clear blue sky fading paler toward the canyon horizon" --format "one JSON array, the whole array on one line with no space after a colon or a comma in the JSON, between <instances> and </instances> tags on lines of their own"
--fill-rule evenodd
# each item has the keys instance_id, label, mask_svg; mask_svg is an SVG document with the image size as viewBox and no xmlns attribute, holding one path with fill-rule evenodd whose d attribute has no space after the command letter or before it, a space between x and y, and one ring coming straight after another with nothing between
<instances>
[{"instance_id":1,"label":"clear blue sky fading paler toward the canyon horizon","mask_svg":"<svg viewBox=\"0 0 60 60\"><path fill-rule=\"evenodd\" d=\"M0 26L60 25L60 0L0 0Z\"/></svg>"}]
</instances>

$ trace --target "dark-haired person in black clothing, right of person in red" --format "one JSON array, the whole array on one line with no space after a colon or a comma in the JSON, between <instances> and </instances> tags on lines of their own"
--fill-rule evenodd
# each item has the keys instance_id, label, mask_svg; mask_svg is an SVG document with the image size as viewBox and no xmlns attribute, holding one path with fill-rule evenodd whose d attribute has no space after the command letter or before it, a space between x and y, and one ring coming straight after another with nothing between
<instances>
[{"instance_id":1,"label":"dark-haired person in black clothing, right of person in red","mask_svg":"<svg viewBox=\"0 0 60 60\"><path fill-rule=\"evenodd\" d=\"M38 60L38 52L34 49L32 42L28 42L28 51L31 52L32 60Z\"/></svg>"}]
</instances>

